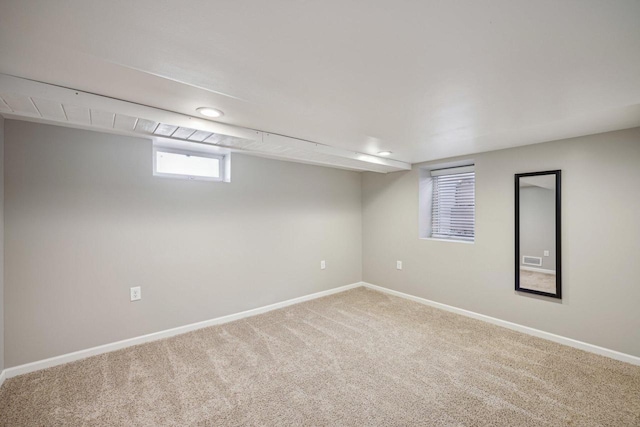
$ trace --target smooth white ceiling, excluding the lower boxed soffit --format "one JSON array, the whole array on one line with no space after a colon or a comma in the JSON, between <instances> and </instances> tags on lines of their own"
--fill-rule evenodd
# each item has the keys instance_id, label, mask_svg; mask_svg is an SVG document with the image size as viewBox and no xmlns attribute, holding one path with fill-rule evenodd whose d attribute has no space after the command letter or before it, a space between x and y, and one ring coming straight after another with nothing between
<instances>
[{"instance_id":1,"label":"smooth white ceiling, excluding the lower boxed soffit","mask_svg":"<svg viewBox=\"0 0 640 427\"><path fill-rule=\"evenodd\" d=\"M640 1L3 0L0 73L420 162L640 126Z\"/></svg>"}]
</instances>

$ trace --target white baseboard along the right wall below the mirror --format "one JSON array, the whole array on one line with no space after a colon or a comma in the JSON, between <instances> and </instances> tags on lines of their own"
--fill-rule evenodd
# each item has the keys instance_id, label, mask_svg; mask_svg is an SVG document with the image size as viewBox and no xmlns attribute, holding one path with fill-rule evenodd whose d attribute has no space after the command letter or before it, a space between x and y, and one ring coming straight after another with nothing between
<instances>
[{"instance_id":1,"label":"white baseboard along the right wall below the mirror","mask_svg":"<svg viewBox=\"0 0 640 427\"><path fill-rule=\"evenodd\" d=\"M545 332L539 329L530 328L528 326L519 325L517 323L508 322L506 320L497 319L495 317L486 316L484 314L480 314L473 311L464 310L462 308L453 307L451 305L431 301L426 298L420 298L414 295L405 294L403 292L394 291L392 289L383 288L382 286L373 285L371 283L362 282L362 286L369 289L376 290L376 291L384 292L389 295L394 295L400 298L405 298L415 302L419 302L420 304L428 305L430 307L435 307L441 310L450 311L452 313L461 314L466 317L482 320L488 323L492 323L494 325L512 329L514 331L522 332L528 335L533 335L538 338L544 338L546 340L557 342L559 344L568 345L569 347L574 347L580 350L588 351L590 353L599 354L601 356L610 357L611 359L616 359L622 362L631 363L632 365L640 366L640 357L633 356L631 354L621 353L619 351L610 350L604 347L599 347L597 345L574 340L572 338L563 337L561 335L552 334L550 332Z\"/></svg>"}]
</instances>

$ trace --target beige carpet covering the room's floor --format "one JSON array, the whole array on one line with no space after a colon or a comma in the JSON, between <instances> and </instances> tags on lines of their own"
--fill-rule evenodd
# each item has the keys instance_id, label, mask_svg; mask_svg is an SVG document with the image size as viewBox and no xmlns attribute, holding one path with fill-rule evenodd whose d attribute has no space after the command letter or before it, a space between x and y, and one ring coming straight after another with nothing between
<instances>
[{"instance_id":1,"label":"beige carpet covering the room's floor","mask_svg":"<svg viewBox=\"0 0 640 427\"><path fill-rule=\"evenodd\" d=\"M640 367L364 288L7 380L3 426L638 426Z\"/></svg>"}]
</instances>

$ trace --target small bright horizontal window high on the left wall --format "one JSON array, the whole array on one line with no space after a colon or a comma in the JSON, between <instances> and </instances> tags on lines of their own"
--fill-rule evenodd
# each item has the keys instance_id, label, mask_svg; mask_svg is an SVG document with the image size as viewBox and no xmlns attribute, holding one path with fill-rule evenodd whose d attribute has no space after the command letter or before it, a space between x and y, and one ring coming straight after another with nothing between
<instances>
[{"instance_id":1,"label":"small bright horizontal window high on the left wall","mask_svg":"<svg viewBox=\"0 0 640 427\"><path fill-rule=\"evenodd\" d=\"M169 178L223 181L225 156L176 148L154 147L153 174Z\"/></svg>"}]
</instances>

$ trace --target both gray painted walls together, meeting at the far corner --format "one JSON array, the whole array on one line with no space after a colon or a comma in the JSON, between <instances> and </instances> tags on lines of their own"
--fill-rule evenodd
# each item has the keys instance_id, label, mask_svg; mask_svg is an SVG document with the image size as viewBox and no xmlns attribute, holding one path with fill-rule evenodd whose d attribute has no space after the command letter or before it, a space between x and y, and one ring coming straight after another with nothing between
<instances>
[{"instance_id":1,"label":"both gray painted walls together, meeting at the far corner","mask_svg":"<svg viewBox=\"0 0 640 427\"><path fill-rule=\"evenodd\" d=\"M154 178L143 139L9 120L4 142L5 367L361 277L640 356L640 129L431 162L474 160L474 244L418 238L418 167L361 187L234 155L219 184ZM513 290L513 174L549 169L563 171L561 302Z\"/></svg>"}]
</instances>

